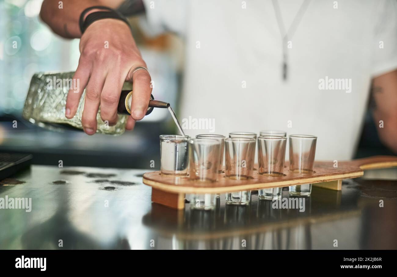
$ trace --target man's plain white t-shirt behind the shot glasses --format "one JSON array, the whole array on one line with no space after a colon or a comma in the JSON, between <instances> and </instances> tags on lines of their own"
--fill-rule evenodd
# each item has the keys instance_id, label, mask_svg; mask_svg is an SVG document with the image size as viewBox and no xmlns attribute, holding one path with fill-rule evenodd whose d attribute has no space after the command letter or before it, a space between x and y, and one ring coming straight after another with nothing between
<instances>
[{"instance_id":1,"label":"man's plain white t-shirt behind the shot glasses","mask_svg":"<svg viewBox=\"0 0 397 277\"><path fill-rule=\"evenodd\" d=\"M288 30L303 0L278 3ZM145 8L153 32L185 38L179 120L214 123L187 135L284 130L316 135L316 160L349 160L371 79L397 69L395 0L312 0L291 28L287 81L272 1L145 0Z\"/></svg>"}]
</instances>

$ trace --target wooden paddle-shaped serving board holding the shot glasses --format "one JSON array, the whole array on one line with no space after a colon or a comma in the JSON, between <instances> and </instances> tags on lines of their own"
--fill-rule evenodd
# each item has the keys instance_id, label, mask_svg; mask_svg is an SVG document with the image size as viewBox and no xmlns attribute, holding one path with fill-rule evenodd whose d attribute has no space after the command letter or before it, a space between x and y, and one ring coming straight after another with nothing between
<instances>
[{"instance_id":1,"label":"wooden paddle-shaped serving board holding the shot glasses","mask_svg":"<svg viewBox=\"0 0 397 277\"><path fill-rule=\"evenodd\" d=\"M143 183L152 187L152 202L183 209L186 193L223 193L240 190L257 190L312 183L315 186L341 190L342 179L357 178L365 169L397 167L397 156L374 156L352 161L314 162L314 173L293 173L286 162L284 176L268 177L254 171L252 179L232 180L220 174L214 183L190 180L189 177L161 175L160 171L143 174ZM257 168L257 165L256 167Z\"/></svg>"}]
</instances>

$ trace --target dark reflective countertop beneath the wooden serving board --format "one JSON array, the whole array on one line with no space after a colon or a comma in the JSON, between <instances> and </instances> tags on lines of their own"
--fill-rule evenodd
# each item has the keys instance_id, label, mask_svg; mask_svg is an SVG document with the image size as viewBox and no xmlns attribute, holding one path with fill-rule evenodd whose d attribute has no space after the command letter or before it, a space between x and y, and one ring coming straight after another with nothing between
<instances>
[{"instance_id":1,"label":"dark reflective countertop beneath the wooden serving board","mask_svg":"<svg viewBox=\"0 0 397 277\"><path fill-rule=\"evenodd\" d=\"M144 172L33 165L0 181L0 201L31 198L30 212L0 209L0 249L397 249L395 168L314 187L304 209L253 192L249 206L221 195L214 211L151 203Z\"/></svg>"}]
</instances>

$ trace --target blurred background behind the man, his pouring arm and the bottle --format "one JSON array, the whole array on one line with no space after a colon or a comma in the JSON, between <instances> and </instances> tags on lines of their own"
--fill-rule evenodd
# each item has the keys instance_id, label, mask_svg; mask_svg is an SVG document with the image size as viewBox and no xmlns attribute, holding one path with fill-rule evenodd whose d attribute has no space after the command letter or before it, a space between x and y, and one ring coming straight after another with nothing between
<instances>
[{"instance_id":1,"label":"blurred background behind the man, his pouring arm and the bottle","mask_svg":"<svg viewBox=\"0 0 397 277\"><path fill-rule=\"evenodd\" d=\"M21 114L33 73L39 71L75 71L79 60L79 40L54 35L40 21L42 0L2 0L0 2L0 152L33 154L34 164L64 166L150 168L160 165L158 136L176 133L167 110L155 109L139 121L133 132L119 137L83 132L54 132L37 127ZM129 18L134 38L153 80L152 94L176 108L183 71L183 41L172 34L146 37L139 18ZM17 47L13 48L13 42ZM371 102L356 158L392 154L376 133ZM17 128L13 122L17 121ZM337 135L337 134L335 134Z\"/></svg>"}]
</instances>

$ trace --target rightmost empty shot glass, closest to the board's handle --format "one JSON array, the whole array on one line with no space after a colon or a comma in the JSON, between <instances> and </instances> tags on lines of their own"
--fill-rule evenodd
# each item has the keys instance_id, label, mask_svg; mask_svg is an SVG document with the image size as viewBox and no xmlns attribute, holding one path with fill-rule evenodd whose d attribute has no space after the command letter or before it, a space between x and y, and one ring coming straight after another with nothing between
<instances>
[{"instance_id":1,"label":"rightmost empty shot glass, closest to the board's handle","mask_svg":"<svg viewBox=\"0 0 397 277\"><path fill-rule=\"evenodd\" d=\"M317 137L310 135L289 136L289 171L295 173L313 173ZM289 194L309 196L312 184L289 187Z\"/></svg>"}]
</instances>

